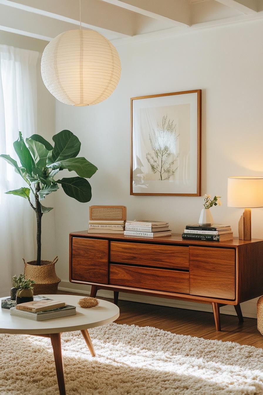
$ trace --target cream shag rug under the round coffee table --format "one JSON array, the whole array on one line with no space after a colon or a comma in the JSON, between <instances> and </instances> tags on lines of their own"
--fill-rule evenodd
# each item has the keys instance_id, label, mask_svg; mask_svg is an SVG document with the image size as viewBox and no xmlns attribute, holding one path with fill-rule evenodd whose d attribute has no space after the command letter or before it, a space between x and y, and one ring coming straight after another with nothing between
<instances>
[{"instance_id":1,"label":"cream shag rug under the round coffee table","mask_svg":"<svg viewBox=\"0 0 263 395\"><path fill-rule=\"evenodd\" d=\"M263 393L263 350L175 335L153 327L63 333L67 395L256 395ZM58 395L50 340L0 335L0 394Z\"/></svg>"}]
</instances>

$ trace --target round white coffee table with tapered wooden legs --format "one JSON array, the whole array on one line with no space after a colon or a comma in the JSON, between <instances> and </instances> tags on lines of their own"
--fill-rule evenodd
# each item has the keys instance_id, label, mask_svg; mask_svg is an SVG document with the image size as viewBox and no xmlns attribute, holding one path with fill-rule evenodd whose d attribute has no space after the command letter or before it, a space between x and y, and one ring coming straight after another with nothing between
<instances>
[{"instance_id":1,"label":"round white coffee table with tapered wooden legs","mask_svg":"<svg viewBox=\"0 0 263 395\"><path fill-rule=\"evenodd\" d=\"M54 351L56 374L60 395L65 395L65 381L63 371L63 359L61 352L60 334L62 332L81 331L84 340L95 357L93 345L91 343L88 328L108 324L119 317L119 308L113 303L100 300L99 306L92 308L82 308L78 306L78 301L82 296L75 295L42 295L50 299L62 301L68 305L76 306L76 315L56 318L46 321L32 321L26 318L11 316L6 308L0 309L0 333L12 333L23 335L38 335L50 337ZM5 299L5 298L1 298Z\"/></svg>"}]
</instances>

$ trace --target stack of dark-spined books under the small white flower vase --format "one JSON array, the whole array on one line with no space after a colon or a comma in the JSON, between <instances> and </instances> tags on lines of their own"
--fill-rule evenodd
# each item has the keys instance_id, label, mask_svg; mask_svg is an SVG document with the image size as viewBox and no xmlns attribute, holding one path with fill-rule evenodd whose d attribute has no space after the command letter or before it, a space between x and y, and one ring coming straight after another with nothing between
<instances>
[{"instance_id":1,"label":"stack of dark-spined books under the small white flower vase","mask_svg":"<svg viewBox=\"0 0 263 395\"><path fill-rule=\"evenodd\" d=\"M233 240L230 225L213 224L213 226L187 225L182 234L185 240L227 241Z\"/></svg>"}]
</instances>

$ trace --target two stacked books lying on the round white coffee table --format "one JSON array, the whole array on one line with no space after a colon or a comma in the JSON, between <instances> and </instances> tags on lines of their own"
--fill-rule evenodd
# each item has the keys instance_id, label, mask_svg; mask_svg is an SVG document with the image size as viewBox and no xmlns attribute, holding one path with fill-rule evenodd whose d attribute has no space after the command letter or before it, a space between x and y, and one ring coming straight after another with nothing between
<instances>
[{"instance_id":1,"label":"two stacked books lying on the round white coffee table","mask_svg":"<svg viewBox=\"0 0 263 395\"><path fill-rule=\"evenodd\" d=\"M66 305L53 299L43 298L40 301L26 302L10 308L11 316L27 318L34 321L51 320L73 316L76 306Z\"/></svg>"}]
</instances>

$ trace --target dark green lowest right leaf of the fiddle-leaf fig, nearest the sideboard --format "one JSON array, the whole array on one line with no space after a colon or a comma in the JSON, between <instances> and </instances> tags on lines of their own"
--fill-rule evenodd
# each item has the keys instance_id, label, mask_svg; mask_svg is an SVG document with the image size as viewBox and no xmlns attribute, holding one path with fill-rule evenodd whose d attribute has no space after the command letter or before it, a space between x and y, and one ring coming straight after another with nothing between
<instances>
[{"instance_id":1,"label":"dark green lowest right leaf of the fiddle-leaf fig, nearest the sideboard","mask_svg":"<svg viewBox=\"0 0 263 395\"><path fill-rule=\"evenodd\" d=\"M81 203L86 203L91 199L90 183L81 177L62 178L56 181L61 184L65 194Z\"/></svg>"}]
</instances>

